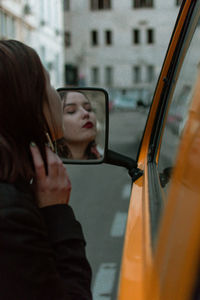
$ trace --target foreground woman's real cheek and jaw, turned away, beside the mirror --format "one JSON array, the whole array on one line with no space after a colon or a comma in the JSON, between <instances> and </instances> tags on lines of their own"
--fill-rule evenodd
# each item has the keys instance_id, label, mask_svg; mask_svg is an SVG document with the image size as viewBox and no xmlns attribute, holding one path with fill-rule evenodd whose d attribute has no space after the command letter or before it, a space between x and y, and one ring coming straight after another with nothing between
<instances>
[{"instance_id":1,"label":"foreground woman's real cheek and jaw, turned away, beside the mirror","mask_svg":"<svg viewBox=\"0 0 200 300\"><path fill-rule=\"evenodd\" d=\"M44 103L44 114L51 130L52 137L56 140L63 137L62 104L60 102L58 92L51 85L48 72L45 69L44 72L46 77L46 91L49 101L49 107L46 102Z\"/></svg>"}]
</instances>

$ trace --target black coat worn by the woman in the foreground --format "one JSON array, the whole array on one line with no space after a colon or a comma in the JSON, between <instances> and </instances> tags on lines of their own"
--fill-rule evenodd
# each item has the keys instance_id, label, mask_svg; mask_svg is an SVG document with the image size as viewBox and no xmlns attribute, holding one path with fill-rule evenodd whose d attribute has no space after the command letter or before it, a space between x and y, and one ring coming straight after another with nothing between
<instances>
[{"instance_id":1,"label":"black coat worn by the woman in the foreground","mask_svg":"<svg viewBox=\"0 0 200 300\"><path fill-rule=\"evenodd\" d=\"M38 208L29 190L0 183L0 300L86 300L91 269L68 205Z\"/></svg>"}]
</instances>

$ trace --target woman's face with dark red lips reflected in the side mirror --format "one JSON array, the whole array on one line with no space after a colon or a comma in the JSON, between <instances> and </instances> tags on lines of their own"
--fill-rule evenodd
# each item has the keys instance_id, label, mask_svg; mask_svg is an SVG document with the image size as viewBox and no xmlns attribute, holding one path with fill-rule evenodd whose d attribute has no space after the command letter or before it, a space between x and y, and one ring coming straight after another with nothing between
<instances>
[{"instance_id":1,"label":"woman's face with dark red lips reflected in the side mirror","mask_svg":"<svg viewBox=\"0 0 200 300\"><path fill-rule=\"evenodd\" d=\"M64 97L63 122L64 137L69 143L89 143L96 137L96 115L82 93L69 92Z\"/></svg>"}]
</instances>

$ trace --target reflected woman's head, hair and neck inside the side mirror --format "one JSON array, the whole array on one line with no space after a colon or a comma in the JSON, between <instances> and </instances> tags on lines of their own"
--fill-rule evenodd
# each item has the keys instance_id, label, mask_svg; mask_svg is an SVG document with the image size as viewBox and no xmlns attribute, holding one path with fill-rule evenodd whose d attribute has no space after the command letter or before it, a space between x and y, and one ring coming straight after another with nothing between
<instances>
[{"instance_id":1,"label":"reflected woman's head, hair and neck inside the side mirror","mask_svg":"<svg viewBox=\"0 0 200 300\"><path fill-rule=\"evenodd\" d=\"M61 91L64 138L59 142L61 156L85 160L98 159L96 115L90 100L81 91Z\"/></svg>"}]
</instances>

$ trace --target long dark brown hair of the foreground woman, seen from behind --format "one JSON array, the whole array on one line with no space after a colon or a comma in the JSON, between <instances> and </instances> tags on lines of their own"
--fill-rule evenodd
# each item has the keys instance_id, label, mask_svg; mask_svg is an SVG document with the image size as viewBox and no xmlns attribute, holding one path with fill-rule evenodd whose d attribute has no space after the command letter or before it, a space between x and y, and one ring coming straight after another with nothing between
<instances>
[{"instance_id":1,"label":"long dark brown hair of the foreground woman, seen from behind","mask_svg":"<svg viewBox=\"0 0 200 300\"><path fill-rule=\"evenodd\" d=\"M19 41L0 41L1 181L29 182L34 177L31 142L39 147L47 170L45 101L46 78L37 53Z\"/></svg>"}]
</instances>

